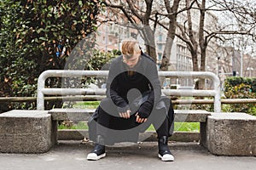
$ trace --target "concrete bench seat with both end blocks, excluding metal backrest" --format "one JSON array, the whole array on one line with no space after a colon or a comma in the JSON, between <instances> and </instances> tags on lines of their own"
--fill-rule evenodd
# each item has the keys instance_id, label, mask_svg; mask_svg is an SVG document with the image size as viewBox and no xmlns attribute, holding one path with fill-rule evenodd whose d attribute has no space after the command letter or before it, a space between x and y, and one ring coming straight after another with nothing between
<instances>
[{"instance_id":1,"label":"concrete bench seat with both end blocks, excluding metal backrest","mask_svg":"<svg viewBox=\"0 0 256 170\"><path fill-rule=\"evenodd\" d=\"M57 121L87 121L93 112L93 109L53 109L15 110L0 114L0 152L44 153L56 144ZM175 110L175 114L175 122L201 123L201 144L212 154L256 156L255 116L195 110ZM88 133L82 130L78 133L88 137Z\"/></svg>"}]
</instances>

